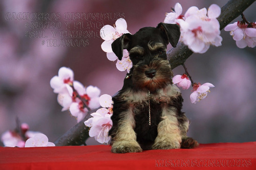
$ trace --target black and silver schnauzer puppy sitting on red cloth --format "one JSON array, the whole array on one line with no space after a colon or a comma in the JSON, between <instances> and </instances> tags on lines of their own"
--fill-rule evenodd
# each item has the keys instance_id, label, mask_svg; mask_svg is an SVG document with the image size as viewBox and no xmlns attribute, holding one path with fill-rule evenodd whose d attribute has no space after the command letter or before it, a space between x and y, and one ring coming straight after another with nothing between
<instances>
[{"instance_id":1,"label":"black and silver schnauzer puppy sitting on red cloth","mask_svg":"<svg viewBox=\"0 0 256 170\"><path fill-rule=\"evenodd\" d=\"M113 153L142 150L194 148L198 142L187 137L189 120L181 111L183 98L173 84L166 56L170 42L176 47L178 25L159 23L134 35L123 34L112 43L119 60L127 49L133 67L122 89L113 97Z\"/></svg>"}]
</instances>

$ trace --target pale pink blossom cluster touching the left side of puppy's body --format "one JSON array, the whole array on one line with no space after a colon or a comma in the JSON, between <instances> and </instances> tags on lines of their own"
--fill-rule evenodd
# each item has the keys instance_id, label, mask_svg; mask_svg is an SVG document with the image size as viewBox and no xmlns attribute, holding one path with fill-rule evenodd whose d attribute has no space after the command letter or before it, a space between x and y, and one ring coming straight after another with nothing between
<instances>
[{"instance_id":1,"label":"pale pink blossom cluster touching the left side of puppy's body","mask_svg":"<svg viewBox=\"0 0 256 170\"><path fill-rule=\"evenodd\" d=\"M85 121L84 125L90 127L89 136L95 137L95 140L100 143L108 143L110 140L109 130L113 125L111 120L113 114L112 97L108 94L103 94L99 98L99 103L104 108L92 113L93 117Z\"/></svg>"}]
</instances>

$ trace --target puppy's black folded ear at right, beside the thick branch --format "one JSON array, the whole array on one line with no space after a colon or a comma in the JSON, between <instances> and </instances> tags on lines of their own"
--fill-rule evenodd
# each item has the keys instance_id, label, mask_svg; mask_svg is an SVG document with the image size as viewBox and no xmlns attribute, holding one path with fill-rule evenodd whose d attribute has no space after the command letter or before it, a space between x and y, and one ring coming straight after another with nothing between
<instances>
[{"instance_id":1,"label":"puppy's black folded ear at right, beside the thick branch","mask_svg":"<svg viewBox=\"0 0 256 170\"><path fill-rule=\"evenodd\" d=\"M157 28L159 28L168 38L168 42L172 44L173 47L176 47L180 39L180 26L177 24L170 23L159 23Z\"/></svg>"}]
</instances>

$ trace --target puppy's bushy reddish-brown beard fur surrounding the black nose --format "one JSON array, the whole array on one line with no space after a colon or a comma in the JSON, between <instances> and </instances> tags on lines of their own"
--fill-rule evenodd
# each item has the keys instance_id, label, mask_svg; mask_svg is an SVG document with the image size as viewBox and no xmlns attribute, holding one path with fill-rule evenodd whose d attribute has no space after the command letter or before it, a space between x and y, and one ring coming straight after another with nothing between
<instances>
[{"instance_id":1,"label":"puppy's bushy reddish-brown beard fur surrounding the black nose","mask_svg":"<svg viewBox=\"0 0 256 170\"><path fill-rule=\"evenodd\" d=\"M145 71L150 69L156 70L156 75L153 78L148 78L145 74ZM133 84L136 88L154 92L172 83L172 77L173 72L167 60L155 59L148 65L144 65L142 62L134 65Z\"/></svg>"}]
</instances>

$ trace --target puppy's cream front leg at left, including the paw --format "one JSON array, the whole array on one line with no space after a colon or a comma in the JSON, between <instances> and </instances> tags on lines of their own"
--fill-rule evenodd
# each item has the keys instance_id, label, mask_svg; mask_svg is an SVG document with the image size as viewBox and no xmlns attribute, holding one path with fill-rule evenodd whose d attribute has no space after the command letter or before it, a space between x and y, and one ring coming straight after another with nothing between
<instances>
[{"instance_id":1,"label":"puppy's cream front leg at left, including the paw","mask_svg":"<svg viewBox=\"0 0 256 170\"><path fill-rule=\"evenodd\" d=\"M134 132L135 120L132 108L120 113L116 135L112 143L113 153L142 152Z\"/></svg>"}]
</instances>

